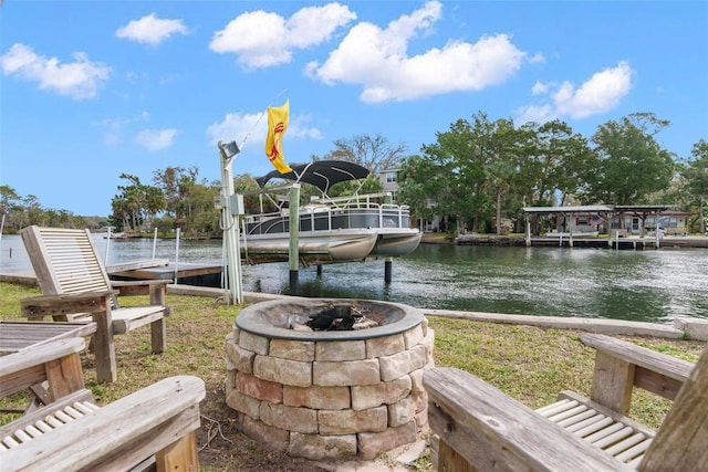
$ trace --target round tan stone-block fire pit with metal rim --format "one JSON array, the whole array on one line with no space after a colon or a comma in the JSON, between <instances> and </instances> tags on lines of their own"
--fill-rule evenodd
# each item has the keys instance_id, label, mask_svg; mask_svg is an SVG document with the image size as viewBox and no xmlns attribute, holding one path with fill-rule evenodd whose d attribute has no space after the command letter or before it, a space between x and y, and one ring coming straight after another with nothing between
<instances>
[{"instance_id":1,"label":"round tan stone-block fire pit with metal rim","mask_svg":"<svg viewBox=\"0 0 708 472\"><path fill-rule=\"evenodd\" d=\"M324 329L312 322L322 313L351 313L364 327ZM337 318L332 329L350 324ZM433 342L423 313L402 304L258 303L226 339L226 401L241 431L291 455L374 459L416 441L427 423L423 371L433 367Z\"/></svg>"}]
</instances>

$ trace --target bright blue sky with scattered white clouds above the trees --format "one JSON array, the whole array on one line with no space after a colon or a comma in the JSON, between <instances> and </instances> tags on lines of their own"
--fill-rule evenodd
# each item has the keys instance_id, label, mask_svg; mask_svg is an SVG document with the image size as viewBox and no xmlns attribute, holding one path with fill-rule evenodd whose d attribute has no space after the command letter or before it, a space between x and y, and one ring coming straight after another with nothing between
<instances>
[{"instance_id":1,"label":"bright blue sky with scattered white clouds above the trees","mask_svg":"<svg viewBox=\"0 0 708 472\"><path fill-rule=\"evenodd\" d=\"M688 157L708 138L707 77L705 1L6 0L0 185L107 216L123 172L218 180L218 140L246 141L233 172L260 176L259 118L287 98L290 164L363 134L416 154L477 112L587 138L652 112Z\"/></svg>"}]
</instances>

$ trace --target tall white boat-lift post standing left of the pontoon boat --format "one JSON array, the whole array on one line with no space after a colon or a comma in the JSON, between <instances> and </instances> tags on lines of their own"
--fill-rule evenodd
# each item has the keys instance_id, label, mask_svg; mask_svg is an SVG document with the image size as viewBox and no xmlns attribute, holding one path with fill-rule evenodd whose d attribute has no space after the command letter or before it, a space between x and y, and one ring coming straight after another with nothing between
<instances>
[{"instance_id":1,"label":"tall white boat-lift post standing left of the pontoon boat","mask_svg":"<svg viewBox=\"0 0 708 472\"><path fill-rule=\"evenodd\" d=\"M228 304L243 303L241 287L241 252L239 249L239 218L233 212L233 174L231 161L240 149L236 143L223 146L219 143L221 157L221 216L223 221L223 240L226 245L227 274L229 286ZM227 154L229 153L229 154Z\"/></svg>"}]
</instances>

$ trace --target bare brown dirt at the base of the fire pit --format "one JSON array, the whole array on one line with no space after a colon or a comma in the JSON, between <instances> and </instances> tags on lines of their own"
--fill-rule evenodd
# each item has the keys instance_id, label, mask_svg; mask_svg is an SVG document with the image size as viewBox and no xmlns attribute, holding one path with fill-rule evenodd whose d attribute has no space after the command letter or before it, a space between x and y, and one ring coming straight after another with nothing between
<instances>
[{"instance_id":1,"label":"bare brown dirt at the base of the fire pit","mask_svg":"<svg viewBox=\"0 0 708 472\"><path fill-rule=\"evenodd\" d=\"M263 447L240 432L236 416L226 405L223 386L207 384L207 398L201 402L201 428L197 431L199 465L202 471L243 471L243 472L317 472L337 471L337 462L310 461L293 458L284 452ZM351 463L351 461L343 461ZM381 465L376 470L396 471L416 470L395 463L395 457L384 454L369 465ZM355 469L354 469L355 470ZM371 470L371 469L367 469Z\"/></svg>"}]
</instances>

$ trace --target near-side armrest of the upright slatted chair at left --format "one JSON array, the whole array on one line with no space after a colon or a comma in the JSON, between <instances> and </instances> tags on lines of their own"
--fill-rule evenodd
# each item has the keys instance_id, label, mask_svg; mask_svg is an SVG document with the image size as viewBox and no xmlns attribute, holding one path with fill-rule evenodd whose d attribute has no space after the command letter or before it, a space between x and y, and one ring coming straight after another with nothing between
<instances>
[{"instance_id":1,"label":"near-side armrest of the upright slatted chair at left","mask_svg":"<svg viewBox=\"0 0 708 472\"><path fill-rule=\"evenodd\" d=\"M42 318L56 314L105 312L108 300L116 291L82 292L64 295L39 295L22 298L20 310L28 318Z\"/></svg>"}]
</instances>

